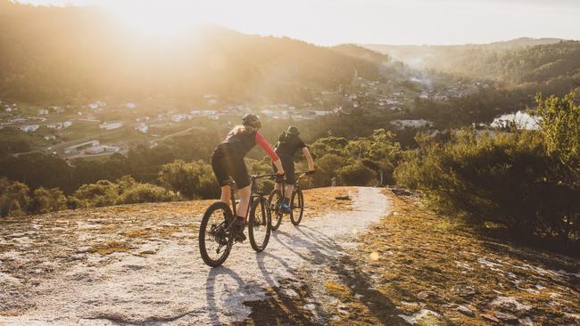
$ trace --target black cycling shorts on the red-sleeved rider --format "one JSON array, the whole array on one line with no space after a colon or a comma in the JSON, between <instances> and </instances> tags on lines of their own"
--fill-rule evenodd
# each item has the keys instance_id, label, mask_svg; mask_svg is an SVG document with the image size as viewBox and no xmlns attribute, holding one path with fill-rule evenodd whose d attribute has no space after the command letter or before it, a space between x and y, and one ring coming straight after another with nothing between
<instances>
[{"instance_id":1,"label":"black cycling shorts on the red-sleeved rider","mask_svg":"<svg viewBox=\"0 0 580 326\"><path fill-rule=\"evenodd\" d=\"M231 177L236 182L237 189L250 185L250 175L245 167L244 156L228 149L221 144L211 155L211 168L220 186L228 185Z\"/></svg>"}]
</instances>

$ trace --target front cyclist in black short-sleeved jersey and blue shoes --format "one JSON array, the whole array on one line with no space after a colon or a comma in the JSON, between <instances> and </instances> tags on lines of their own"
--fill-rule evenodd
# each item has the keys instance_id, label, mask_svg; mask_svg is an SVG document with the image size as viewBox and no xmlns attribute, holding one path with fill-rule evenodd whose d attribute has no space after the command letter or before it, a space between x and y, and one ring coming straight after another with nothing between
<instances>
[{"instance_id":1,"label":"front cyclist in black short-sleeved jersey and blue shoes","mask_svg":"<svg viewBox=\"0 0 580 326\"><path fill-rule=\"evenodd\" d=\"M298 150L302 151L302 155L306 158L308 163L308 170L314 172L314 160L312 159L311 152L308 151L308 147L302 139L300 138L300 130L297 126L289 126L288 130L283 132L278 137L278 143L276 144L276 153L282 161L282 167L286 173L286 196L284 202L282 203L282 211L285 213L290 213L292 208L290 207L290 199L292 198L292 192L294 192L294 153ZM274 171L278 172L278 167L273 166ZM282 191L282 178L278 177L276 180L276 190Z\"/></svg>"}]
</instances>

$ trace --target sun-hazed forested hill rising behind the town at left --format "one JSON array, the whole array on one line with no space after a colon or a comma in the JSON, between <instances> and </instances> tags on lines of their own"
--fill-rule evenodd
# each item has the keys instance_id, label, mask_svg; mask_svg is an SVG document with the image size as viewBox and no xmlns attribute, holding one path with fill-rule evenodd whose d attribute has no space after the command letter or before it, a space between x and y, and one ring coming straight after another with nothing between
<instances>
[{"instance_id":1,"label":"sun-hazed forested hill rising behind the town at left","mask_svg":"<svg viewBox=\"0 0 580 326\"><path fill-rule=\"evenodd\" d=\"M0 57L0 96L29 102L204 93L291 101L305 87L350 83L355 71L381 77L376 61L286 37L206 26L173 43L152 42L95 8L8 0L0 0Z\"/></svg>"}]
</instances>

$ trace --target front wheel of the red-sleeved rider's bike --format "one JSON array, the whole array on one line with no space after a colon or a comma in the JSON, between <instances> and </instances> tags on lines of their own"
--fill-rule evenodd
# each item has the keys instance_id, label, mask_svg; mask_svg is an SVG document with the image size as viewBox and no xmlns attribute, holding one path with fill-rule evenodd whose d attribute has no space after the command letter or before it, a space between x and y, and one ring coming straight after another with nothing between
<instances>
[{"instance_id":1,"label":"front wheel of the red-sleeved rider's bike","mask_svg":"<svg viewBox=\"0 0 580 326\"><path fill-rule=\"evenodd\" d=\"M250 244L257 252L263 251L268 246L271 230L270 218L269 201L263 197L253 200L248 233L250 235Z\"/></svg>"}]
</instances>

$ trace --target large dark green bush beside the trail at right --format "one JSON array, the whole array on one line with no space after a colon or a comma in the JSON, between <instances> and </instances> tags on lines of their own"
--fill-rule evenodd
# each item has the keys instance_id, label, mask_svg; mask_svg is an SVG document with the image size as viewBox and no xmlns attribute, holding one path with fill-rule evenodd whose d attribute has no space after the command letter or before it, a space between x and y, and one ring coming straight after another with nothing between
<instances>
[{"instance_id":1,"label":"large dark green bush beside the trail at right","mask_svg":"<svg viewBox=\"0 0 580 326\"><path fill-rule=\"evenodd\" d=\"M547 154L541 134L466 129L449 143L424 137L418 143L417 153L404 155L395 179L423 190L436 208L474 224L502 224L519 238L577 239L580 192L557 181L559 160Z\"/></svg>"}]
</instances>

